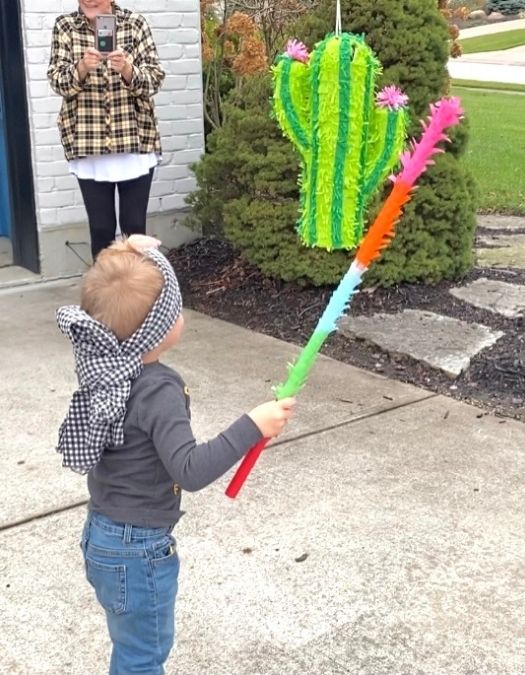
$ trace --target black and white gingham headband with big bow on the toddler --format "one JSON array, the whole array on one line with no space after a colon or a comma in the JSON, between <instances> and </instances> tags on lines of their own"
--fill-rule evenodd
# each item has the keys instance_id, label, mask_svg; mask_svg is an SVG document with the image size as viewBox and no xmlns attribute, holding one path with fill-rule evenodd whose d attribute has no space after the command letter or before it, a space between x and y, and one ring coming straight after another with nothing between
<instances>
[{"instance_id":1,"label":"black and white gingham headband with big bow on the toddler","mask_svg":"<svg viewBox=\"0 0 525 675\"><path fill-rule=\"evenodd\" d=\"M157 347L182 310L175 272L156 249L144 251L164 277L148 316L124 342L78 305L60 307L58 327L73 343L79 388L59 431L63 466L87 473L108 446L124 443L124 417L131 383L142 372L142 355Z\"/></svg>"}]
</instances>

